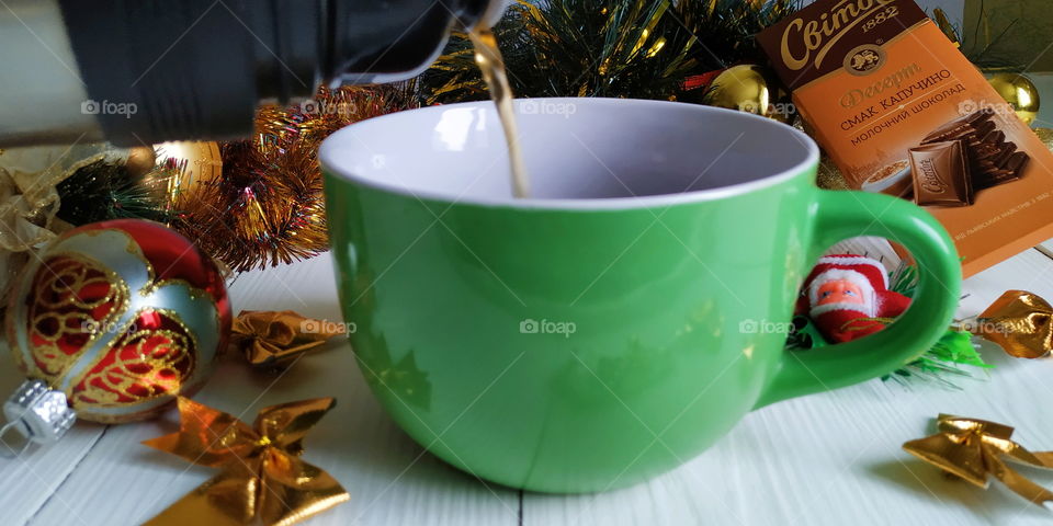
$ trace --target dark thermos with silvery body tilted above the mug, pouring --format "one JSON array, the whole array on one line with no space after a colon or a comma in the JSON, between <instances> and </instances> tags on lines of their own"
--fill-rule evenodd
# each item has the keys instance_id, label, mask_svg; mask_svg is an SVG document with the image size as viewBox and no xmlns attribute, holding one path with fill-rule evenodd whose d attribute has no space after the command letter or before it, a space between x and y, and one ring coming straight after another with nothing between
<instances>
[{"instance_id":1,"label":"dark thermos with silvery body tilted above the mug, pouring","mask_svg":"<svg viewBox=\"0 0 1053 526\"><path fill-rule=\"evenodd\" d=\"M411 78L508 0L7 0L0 147L252 129L319 83Z\"/></svg>"}]
</instances>

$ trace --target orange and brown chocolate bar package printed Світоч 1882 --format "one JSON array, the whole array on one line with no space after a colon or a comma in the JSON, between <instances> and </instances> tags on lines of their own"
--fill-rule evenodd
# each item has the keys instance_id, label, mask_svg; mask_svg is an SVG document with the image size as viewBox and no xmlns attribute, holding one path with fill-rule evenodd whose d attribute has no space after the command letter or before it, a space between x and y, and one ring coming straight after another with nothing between
<instances>
[{"instance_id":1,"label":"orange and brown chocolate bar package printed \u0421\u0432\u0456\u0442\u043e\u0447 1882","mask_svg":"<svg viewBox=\"0 0 1053 526\"><path fill-rule=\"evenodd\" d=\"M1053 238L1053 153L914 1L816 0L757 39L848 186L914 198L963 274Z\"/></svg>"}]
</instances>

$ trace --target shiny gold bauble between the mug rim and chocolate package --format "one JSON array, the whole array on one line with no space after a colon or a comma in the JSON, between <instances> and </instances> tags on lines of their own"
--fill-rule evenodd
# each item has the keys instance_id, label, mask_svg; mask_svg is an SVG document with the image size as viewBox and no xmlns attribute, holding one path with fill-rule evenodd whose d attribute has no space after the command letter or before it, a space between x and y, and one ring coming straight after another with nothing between
<instances>
[{"instance_id":1,"label":"shiny gold bauble between the mug rim and chocolate package","mask_svg":"<svg viewBox=\"0 0 1053 526\"><path fill-rule=\"evenodd\" d=\"M770 70L756 65L732 66L717 75L702 102L761 115L783 124L791 123L794 117L790 92L782 88Z\"/></svg>"}]
</instances>

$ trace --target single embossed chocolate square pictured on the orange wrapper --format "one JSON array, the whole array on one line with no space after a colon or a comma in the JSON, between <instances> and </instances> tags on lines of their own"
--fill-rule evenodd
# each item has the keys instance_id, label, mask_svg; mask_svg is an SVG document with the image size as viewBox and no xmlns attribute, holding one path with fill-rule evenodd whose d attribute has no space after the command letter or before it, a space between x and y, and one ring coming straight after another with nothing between
<instances>
[{"instance_id":1,"label":"single embossed chocolate square pictured on the orange wrapper","mask_svg":"<svg viewBox=\"0 0 1053 526\"><path fill-rule=\"evenodd\" d=\"M948 140L910 148L910 170L914 174L914 197L919 205L973 204L963 141Z\"/></svg>"}]
</instances>

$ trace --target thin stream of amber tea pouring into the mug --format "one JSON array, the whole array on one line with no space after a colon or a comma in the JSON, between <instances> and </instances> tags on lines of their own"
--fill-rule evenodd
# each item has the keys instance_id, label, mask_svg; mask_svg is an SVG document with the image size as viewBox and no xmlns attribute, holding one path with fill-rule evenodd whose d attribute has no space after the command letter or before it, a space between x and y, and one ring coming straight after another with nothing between
<instances>
[{"instance_id":1,"label":"thin stream of amber tea pouring into the mug","mask_svg":"<svg viewBox=\"0 0 1053 526\"><path fill-rule=\"evenodd\" d=\"M505 129L505 142L508 144L508 163L512 171L512 193L516 197L526 197L530 184L526 180L526 167L523 152L519 148L519 127L516 126L516 112L512 107L512 89L508 85L505 60L497 48L497 38L488 27L476 26L468 33L475 45L475 62L483 71L483 80L490 89L490 98L497 105L497 115Z\"/></svg>"}]
</instances>

